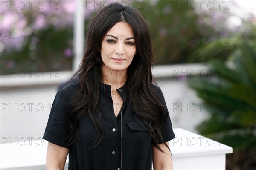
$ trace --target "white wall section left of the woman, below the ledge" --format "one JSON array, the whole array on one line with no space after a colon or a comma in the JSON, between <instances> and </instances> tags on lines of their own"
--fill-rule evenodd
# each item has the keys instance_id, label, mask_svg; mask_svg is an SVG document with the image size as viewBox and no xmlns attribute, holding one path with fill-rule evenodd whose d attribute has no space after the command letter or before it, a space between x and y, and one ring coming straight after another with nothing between
<instances>
[{"instance_id":1,"label":"white wall section left of the woman, below the ledge","mask_svg":"<svg viewBox=\"0 0 256 170\"><path fill-rule=\"evenodd\" d=\"M1 142L6 138L10 142L15 138L29 141L29 138L43 137L56 89L52 86L1 90Z\"/></svg>"}]
</instances>

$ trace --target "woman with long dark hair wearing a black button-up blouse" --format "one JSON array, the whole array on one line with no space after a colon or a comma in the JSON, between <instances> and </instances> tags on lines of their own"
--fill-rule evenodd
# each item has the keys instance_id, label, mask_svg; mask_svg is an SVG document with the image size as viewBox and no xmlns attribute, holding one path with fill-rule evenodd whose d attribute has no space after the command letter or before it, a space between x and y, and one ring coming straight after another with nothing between
<instances>
[{"instance_id":1,"label":"woman with long dark hair wearing a black button-up blouse","mask_svg":"<svg viewBox=\"0 0 256 170\"><path fill-rule=\"evenodd\" d=\"M117 3L90 23L79 80L55 97L44 139L47 169L173 169L175 138L151 67L149 30L141 15ZM156 83L155 83L156 84Z\"/></svg>"}]
</instances>

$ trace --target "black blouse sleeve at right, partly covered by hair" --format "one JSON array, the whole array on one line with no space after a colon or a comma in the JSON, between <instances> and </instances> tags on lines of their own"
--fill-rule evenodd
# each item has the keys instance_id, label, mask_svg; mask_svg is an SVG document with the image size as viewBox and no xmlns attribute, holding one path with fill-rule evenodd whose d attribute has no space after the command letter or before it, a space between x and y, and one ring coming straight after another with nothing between
<instances>
[{"instance_id":1,"label":"black blouse sleeve at right, partly covered by hair","mask_svg":"<svg viewBox=\"0 0 256 170\"><path fill-rule=\"evenodd\" d=\"M165 142L168 142L168 141L172 140L173 138L175 138L175 134L172 130L171 118L170 118L170 115L169 115L169 112L168 112L168 109L166 106L166 102L164 100L163 92L160 88L159 88L159 95L160 95L160 102L164 105L165 109L167 110L167 112L164 110L163 121L162 121L160 130L163 135L163 140ZM164 119L166 116L167 116L167 118Z\"/></svg>"}]
</instances>

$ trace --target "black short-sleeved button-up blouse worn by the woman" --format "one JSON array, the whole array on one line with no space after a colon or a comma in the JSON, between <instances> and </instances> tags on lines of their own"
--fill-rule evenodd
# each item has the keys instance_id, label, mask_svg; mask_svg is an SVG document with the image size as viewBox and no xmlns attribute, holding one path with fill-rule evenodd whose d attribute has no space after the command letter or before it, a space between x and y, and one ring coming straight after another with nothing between
<instances>
[{"instance_id":1,"label":"black short-sleeved button-up blouse worn by the woman","mask_svg":"<svg viewBox=\"0 0 256 170\"><path fill-rule=\"evenodd\" d=\"M166 107L161 89L155 85L153 88L160 94L160 101ZM72 83L60 89L53 101L49 120L45 129L44 139L62 147L69 148L69 170L151 170L152 164L152 137L143 127L131 109L130 102L126 101L126 88L122 86L116 91L123 100L121 111L115 117L111 86L102 83L99 107L101 109L100 121L104 128L102 142L90 150L96 139L96 129L88 114L85 114L79 123L80 141L67 146L64 139L67 137L67 114L69 99L79 89L79 83ZM167 107L166 107L167 109ZM169 115L168 112L165 112ZM121 121L122 117L122 121ZM122 130L121 130L122 123ZM122 131L122 150L121 150ZM170 117L161 125L164 141L175 138L172 131ZM122 159L121 159L122 156Z\"/></svg>"}]
</instances>

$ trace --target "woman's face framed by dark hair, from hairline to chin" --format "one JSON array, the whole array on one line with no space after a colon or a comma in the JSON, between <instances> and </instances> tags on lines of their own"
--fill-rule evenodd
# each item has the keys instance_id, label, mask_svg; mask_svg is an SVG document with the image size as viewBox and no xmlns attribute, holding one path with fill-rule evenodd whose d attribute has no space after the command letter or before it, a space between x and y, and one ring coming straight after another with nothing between
<instances>
[{"instance_id":1,"label":"woman's face framed by dark hair, from hairline to chin","mask_svg":"<svg viewBox=\"0 0 256 170\"><path fill-rule=\"evenodd\" d=\"M104 69L125 70L136 54L133 29L126 22L116 23L105 34L99 50Z\"/></svg>"}]
</instances>

